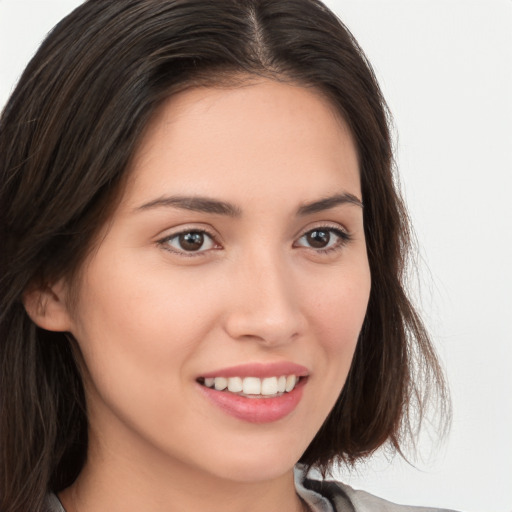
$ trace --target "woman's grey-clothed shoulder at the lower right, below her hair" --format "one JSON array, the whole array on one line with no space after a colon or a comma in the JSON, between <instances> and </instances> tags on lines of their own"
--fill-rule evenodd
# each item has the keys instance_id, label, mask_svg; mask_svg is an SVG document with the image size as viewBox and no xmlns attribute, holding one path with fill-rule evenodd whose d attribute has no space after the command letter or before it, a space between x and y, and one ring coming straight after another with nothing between
<instances>
[{"instance_id":1,"label":"woman's grey-clothed shoulder at the lower right, below her hair","mask_svg":"<svg viewBox=\"0 0 512 512\"><path fill-rule=\"evenodd\" d=\"M397 505L332 480L304 480L304 487L325 496L335 512L454 512L440 508Z\"/></svg>"}]
</instances>

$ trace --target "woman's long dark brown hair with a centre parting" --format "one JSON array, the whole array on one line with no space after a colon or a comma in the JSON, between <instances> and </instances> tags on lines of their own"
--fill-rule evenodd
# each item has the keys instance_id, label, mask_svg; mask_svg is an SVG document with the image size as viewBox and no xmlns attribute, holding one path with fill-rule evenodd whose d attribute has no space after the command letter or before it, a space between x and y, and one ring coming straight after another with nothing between
<instances>
[{"instance_id":1,"label":"woman's long dark brown hair with a centre parting","mask_svg":"<svg viewBox=\"0 0 512 512\"><path fill-rule=\"evenodd\" d=\"M89 0L29 63L0 120L0 511L38 511L80 472L87 414L69 335L38 328L31 286L72 277L111 214L137 143L174 91L265 76L323 92L359 153L372 288L346 385L301 461L398 451L439 363L404 291L409 224L389 114L347 28L317 0Z\"/></svg>"}]
</instances>

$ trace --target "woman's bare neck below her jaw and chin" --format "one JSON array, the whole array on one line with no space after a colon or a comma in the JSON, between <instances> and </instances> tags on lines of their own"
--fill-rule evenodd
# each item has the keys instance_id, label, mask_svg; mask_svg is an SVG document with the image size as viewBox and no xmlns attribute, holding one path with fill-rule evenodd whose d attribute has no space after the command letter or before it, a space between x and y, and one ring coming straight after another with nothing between
<instances>
[{"instance_id":1,"label":"woman's bare neck below her jaw and chin","mask_svg":"<svg viewBox=\"0 0 512 512\"><path fill-rule=\"evenodd\" d=\"M90 452L91 453L91 452ZM150 468L150 469L148 469ZM275 478L239 482L186 465L90 456L75 483L60 494L66 512L304 512L293 469Z\"/></svg>"}]
</instances>

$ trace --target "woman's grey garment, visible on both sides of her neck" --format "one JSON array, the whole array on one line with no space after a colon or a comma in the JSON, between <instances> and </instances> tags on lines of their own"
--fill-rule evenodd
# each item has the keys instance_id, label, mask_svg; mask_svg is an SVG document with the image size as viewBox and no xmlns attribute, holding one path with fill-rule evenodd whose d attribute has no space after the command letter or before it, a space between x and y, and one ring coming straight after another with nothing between
<instances>
[{"instance_id":1,"label":"woman's grey garment, visible on both sides of her neck","mask_svg":"<svg viewBox=\"0 0 512 512\"><path fill-rule=\"evenodd\" d=\"M440 508L396 505L340 482L311 480L300 466L295 468L295 488L311 512L455 512ZM44 512L66 511L57 496L49 494Z\"/></svg>"}]
</instances>

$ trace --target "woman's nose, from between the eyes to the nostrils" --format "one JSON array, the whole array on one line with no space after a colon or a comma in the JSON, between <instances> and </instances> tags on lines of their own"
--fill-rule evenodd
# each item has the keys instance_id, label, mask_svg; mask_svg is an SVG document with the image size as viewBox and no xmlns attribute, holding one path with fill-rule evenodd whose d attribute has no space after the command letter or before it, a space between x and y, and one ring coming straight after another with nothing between
<instances>
[{"instance_id":1,"label":"woman's nose, from between the eyes to the nostrils","mask_svg":"<svg viewBox=\"0 0 512 512\"><path fill-rule=\"evenodd\" d=\"M237 340L276 347L305 329L293 269L277 256L260 254L231 274L232 294L225 329Z\"/></svg>"}]
</instances>

